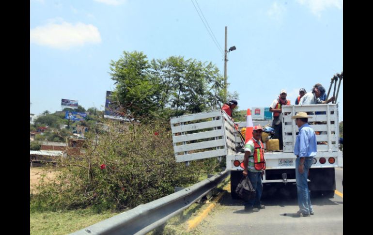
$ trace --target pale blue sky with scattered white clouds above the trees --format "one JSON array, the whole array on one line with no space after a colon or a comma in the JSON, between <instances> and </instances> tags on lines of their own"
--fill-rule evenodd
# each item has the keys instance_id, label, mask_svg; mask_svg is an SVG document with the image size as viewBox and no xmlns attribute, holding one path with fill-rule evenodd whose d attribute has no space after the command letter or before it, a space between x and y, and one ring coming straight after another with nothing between
<instances>
[{"instance_id":1,"label":"pale blue sky with scattered white clouds above the trees","mask_svg":"<svg viewBox=\"0 0 373 235\"><path fill-rule=\"evenodd\" d=\"M342 0L30 0L30 113L62 110L62 98L104 110L123 51L212 62L224 76L225 26L239 110L282 89L295 104L343 71ZM337 103L343 121L343 80Z\"/></svg>"}]
</instances>

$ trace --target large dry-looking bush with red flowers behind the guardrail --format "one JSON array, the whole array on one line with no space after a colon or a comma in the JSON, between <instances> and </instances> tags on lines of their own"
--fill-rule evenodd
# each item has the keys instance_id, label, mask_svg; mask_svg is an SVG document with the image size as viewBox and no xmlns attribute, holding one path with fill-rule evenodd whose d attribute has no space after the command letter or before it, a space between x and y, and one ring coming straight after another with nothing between
<instances>
[{"instance_id":1,"label":"large dry-looking bush with red flowers behind the guardrail","mask_svg":"<svg viewBox=\"0 0 373 235\"><path fill-rule=\"evenodd\" d=\"M109 123L109 131L86 144L86 152L58 163L52 183L42 181L31 210L125 209L151 202L221 171L217 159L176 163L169 122Z\"/></svg>"}]
</instances>

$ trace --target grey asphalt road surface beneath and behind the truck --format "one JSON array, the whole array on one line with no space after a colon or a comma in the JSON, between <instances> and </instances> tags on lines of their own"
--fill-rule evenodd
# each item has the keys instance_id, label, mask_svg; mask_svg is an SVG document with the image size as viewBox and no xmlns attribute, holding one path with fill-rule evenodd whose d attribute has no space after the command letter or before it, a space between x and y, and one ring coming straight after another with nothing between
<instances>
[{"instance_id":1,"label":"grey asphalt road surface beneath and behind the truck","mask_svg":"<svg viewBox=\"0 0 373 235\"><path fill-rule=\"evenodd\" d=\"M336 187L341 193L342 179L343 169L338 168ZM314 215L298 218L295 216L299 209L295 187L266 195L262 200L265 209L252 212L245 212L243 202L233 200L230 193L226 193L220 205L195 229L203 235L339 235L343 234L343 198L340 195L335 194L331 199L311 198Z\"/></svg>"}]
</instances>

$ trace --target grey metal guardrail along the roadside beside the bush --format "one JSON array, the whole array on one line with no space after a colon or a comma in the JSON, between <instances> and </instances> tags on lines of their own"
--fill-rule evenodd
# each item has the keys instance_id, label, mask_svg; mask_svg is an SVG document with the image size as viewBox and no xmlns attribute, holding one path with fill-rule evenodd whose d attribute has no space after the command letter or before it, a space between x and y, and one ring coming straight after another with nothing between
<instances>
[{"instance_id":1,"label":"grey metal guardrail along the roadside beside the bush","mask_svg":"<svg viewBox=\"0 0 373 235\"><path fill-rule=\"evenodd\" d=\"M225 170L191 187L88 226L70 235L143 235L183 212L229 174Z\"/></svg>"}]
</instances>

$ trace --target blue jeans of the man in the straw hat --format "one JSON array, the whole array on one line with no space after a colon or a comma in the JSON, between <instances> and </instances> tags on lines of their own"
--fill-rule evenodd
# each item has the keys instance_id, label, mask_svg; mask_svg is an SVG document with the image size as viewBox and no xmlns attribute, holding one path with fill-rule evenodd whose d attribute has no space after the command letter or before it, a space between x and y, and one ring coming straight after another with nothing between
<instances>
[{"instance_id":1,"label":"blue jeans of the man in the straw hat","mask_svg":"<svg viewBox=\"0 0 373 235\"><path fill-rule=\"evenodd\" d=\"M296 178L296 189L298 194L298 205L299 210L303 214L310 214L313 212L311 198L310 198L310 190L308 189L307 183L307 176L308 171L312 166L312 157L305 157L303 174L299 173L299 161L300 157L297 157L295 160L295 178Z\"/></svg>"}]
</instances>

